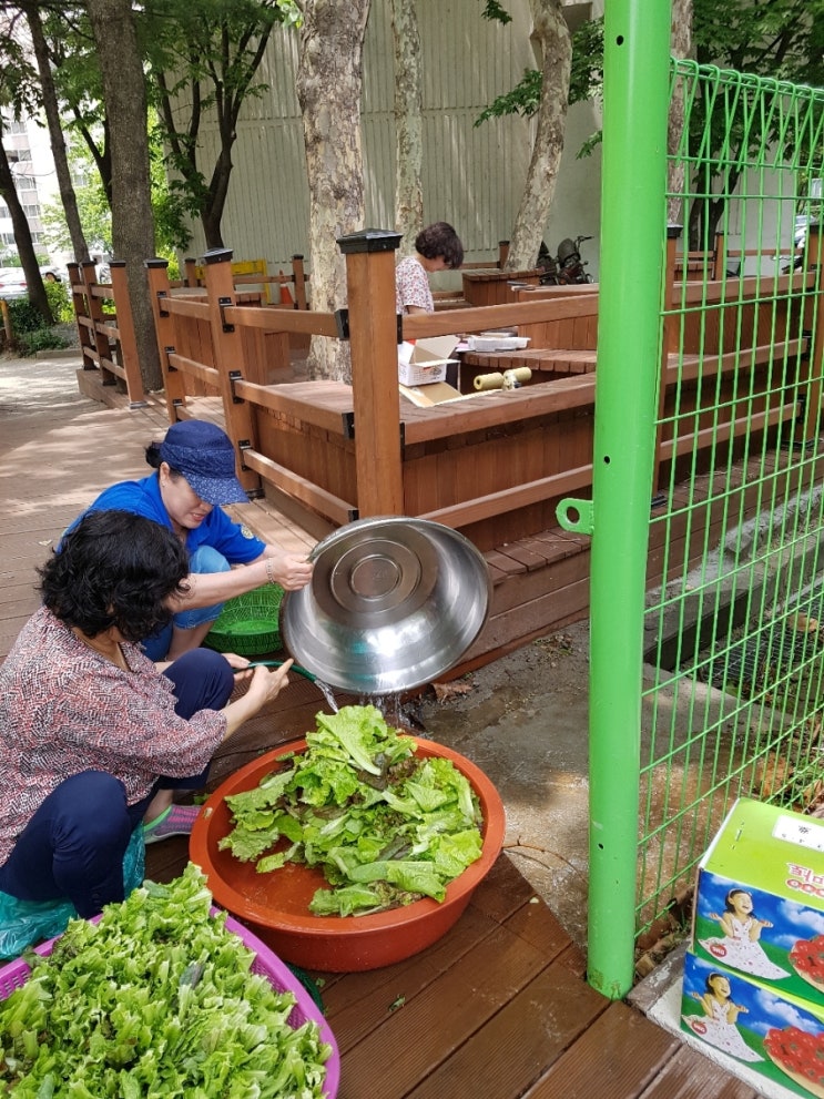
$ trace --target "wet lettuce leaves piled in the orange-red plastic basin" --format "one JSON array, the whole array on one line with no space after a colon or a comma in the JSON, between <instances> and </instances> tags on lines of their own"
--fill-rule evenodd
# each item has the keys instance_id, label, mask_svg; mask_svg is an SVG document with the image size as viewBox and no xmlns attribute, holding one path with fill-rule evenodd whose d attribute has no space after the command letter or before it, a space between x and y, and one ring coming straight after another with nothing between
<instances>
[{"instance_id":1,"label":"wet lettuce leaves piled in the orange-red plastic basin","mask_svg":"<svg viewBox=\"0 0 824 1099\"><path fill-rule=\"evenodd\" d=\"M234 827L220 846L260 873L287 862L323 869L330 889L317 916L366 915L442 900L481 854L478 797L439 756L418 756L413 737L375 706L319 713L307 749L254 790L226 797Z\"/></svg>"}]
</instances>

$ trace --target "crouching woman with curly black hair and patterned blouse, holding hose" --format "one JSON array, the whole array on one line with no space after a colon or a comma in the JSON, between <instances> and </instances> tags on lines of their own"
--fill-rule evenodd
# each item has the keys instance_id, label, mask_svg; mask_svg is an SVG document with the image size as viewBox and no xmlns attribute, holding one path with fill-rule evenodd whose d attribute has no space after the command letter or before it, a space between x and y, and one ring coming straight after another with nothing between
<instances>
[{"instance_id":1,"label":"crouching woman with curly black hair and patterned blouse, holding hose","mask_svg":"<svg viewBox=\"0 0 824 1099\"><path fill-rule=\"evenodd\" d=\"M0 891L68 899L83 917L123 899L123 856L191 832L210 761L277 696L292 661L237 676L196 649L155 666L138 642L171 615L189 572L166 527L92 511L40 571L42 606L0 668Z\"/></svg>"}]
</instances>

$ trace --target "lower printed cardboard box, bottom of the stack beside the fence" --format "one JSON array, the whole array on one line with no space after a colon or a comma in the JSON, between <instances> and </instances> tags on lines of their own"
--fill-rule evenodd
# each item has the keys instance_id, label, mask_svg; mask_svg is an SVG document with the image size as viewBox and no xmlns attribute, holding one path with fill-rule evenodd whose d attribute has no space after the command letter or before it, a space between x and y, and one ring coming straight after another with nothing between
<instances>
[{"instance_id":1,"label":"lower printed cardboard box, bottom of the stack beside the fence","mask_svg":"<svg viewBox=\"0 0 824 1099\"><path fill-rule=\"evenodd\" d=\"M824 1008L684 956L681 1029L800 1096L824 1099Z\"/></svg>"}]
</instances>

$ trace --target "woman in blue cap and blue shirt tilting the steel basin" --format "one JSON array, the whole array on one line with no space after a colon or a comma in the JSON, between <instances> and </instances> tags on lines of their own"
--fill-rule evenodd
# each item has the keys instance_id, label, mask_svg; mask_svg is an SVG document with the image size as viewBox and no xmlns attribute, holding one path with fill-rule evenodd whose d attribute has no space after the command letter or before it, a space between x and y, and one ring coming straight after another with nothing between
<instances>
[{"instance_id":1,"label":"woman in blue cap and blue shirt tilting the steel basin","mask_svg":"<svg viewBox=\"0 0 824 1099\"><path fill-rule=\"evenodd\" d=\"M309 582L309 561L255 538L221 507L246 503L248 497L235 475L232 441L217 425L173 424L162 442L146 447L145 457L154 474L112 485L87 513L133 511L173 531L186 549L190 574L172 597L172 621L141 639L150 659L175 660L196 649L227 599L267 583L296 591ZM234 662L232 654L228 659Z\"/></svg>"}]
</instances>

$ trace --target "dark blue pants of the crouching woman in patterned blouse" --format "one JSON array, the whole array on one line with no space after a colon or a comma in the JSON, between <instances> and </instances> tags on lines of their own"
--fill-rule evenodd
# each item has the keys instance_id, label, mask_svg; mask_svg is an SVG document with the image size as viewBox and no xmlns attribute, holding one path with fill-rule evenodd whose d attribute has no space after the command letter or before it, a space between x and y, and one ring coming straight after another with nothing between
<instances>
[{"instance_id":1,"label":"dark blue pants of the crouching woman in patterned blouse","mask_svg":"<svg viewBox=\"0 0 824 1099\"><path fill-rule=\"evenodd\" d=\"M164 671L174 684L175 712L222 710L234 686L228 662L208 649L184 653ZM200 790L208 767L190 779L160 777L147 797L126 805L119 779L83 771L62 782L20 833L0 866L0 891L21 900L68 897L80 916L123 899L123 855L157 790Z\"/></svg>"}]
</instances>

